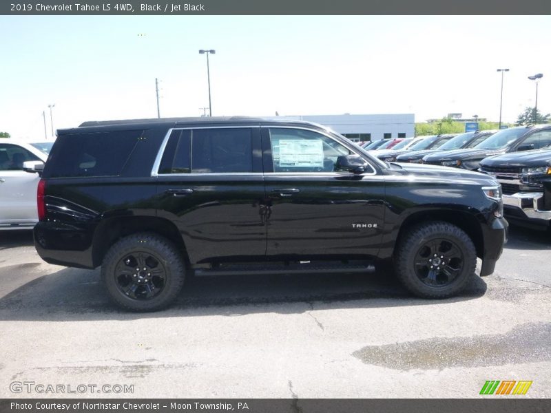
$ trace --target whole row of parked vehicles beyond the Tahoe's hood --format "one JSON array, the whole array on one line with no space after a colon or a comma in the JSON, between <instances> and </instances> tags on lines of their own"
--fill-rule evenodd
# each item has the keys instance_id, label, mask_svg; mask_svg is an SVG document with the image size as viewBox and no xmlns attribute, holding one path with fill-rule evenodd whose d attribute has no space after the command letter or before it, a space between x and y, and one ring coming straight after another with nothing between
<instances>
[{"instance_id":1,"label":"whole row of parked vehicles beyond the Tahoe's hood","mask_svg":"<svg viewBox=\"0 0 551 413\"><path fill-rule=\"evenodd\" d=\"M479 171L501 184L505 216L536 229L551 223L551 125L426 136L416 145L370 151L387 162Z\"/></svg>"}]
</instances>

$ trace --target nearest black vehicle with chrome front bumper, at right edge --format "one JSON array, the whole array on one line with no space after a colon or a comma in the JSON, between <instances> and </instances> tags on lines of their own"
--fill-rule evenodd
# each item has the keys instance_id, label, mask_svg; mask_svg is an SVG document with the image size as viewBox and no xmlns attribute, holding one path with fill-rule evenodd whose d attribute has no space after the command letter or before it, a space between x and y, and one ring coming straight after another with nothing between
<instances>
[{"instance_id":1,"label":"nearest black vehicle with chrome front bumper, at right edge","mask_svg":"<svg viewBox=\"0 0 551 413\"><path fill-rule=\"evenodd\" d=\"M551 138L551 129L547 134ZM503 189L504 213L523 226L548 229L551 223L551 148L506 153L480 162Z\"/></svg>"}]
</instances>

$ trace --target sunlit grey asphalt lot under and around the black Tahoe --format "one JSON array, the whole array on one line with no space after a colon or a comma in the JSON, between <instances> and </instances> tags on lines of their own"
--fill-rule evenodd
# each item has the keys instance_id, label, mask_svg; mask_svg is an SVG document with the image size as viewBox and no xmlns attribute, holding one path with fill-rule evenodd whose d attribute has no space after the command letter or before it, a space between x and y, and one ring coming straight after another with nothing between
<instances>
[{"instance_id":1,"label":"sunlit grey asphalt lot under and around the black Tahoe","mask_svg":"<svg viewBox=\"0 0 551 413\"><path fill-rule=\"evenodd\" d=\"M441 301L382 268L198 277L169 310L136 315L107 301L98 270L45 264L30 233L3 232L0 398L79 385L79 397L472 398L487 380L550 397L550 252L549 233L512 227L495 274Z\"/></svg>"}]
</instances>

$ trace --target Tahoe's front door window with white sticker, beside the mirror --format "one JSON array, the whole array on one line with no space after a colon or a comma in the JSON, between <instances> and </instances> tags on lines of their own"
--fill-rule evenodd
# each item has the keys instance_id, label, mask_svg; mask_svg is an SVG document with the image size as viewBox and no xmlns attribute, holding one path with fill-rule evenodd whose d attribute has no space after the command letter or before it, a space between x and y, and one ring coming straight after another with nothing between
<instances>
[{"instance_id":1,"label":"Tahoe's front door window with white sticker, beside the mirror","mask_svg":"<svg viewBox=\"0 0 551 413\"><path fill-rule=\"evenodd\" d=\"M337 158L351 151L314 131L271 128L270 145L274 172L331 172Z\"/></svg>"}]
</instances>

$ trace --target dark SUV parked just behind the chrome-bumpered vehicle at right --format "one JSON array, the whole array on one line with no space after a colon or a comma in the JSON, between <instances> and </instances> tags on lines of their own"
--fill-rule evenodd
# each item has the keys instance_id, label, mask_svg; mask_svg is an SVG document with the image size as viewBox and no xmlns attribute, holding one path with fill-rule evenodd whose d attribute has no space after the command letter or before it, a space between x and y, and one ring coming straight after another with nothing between
<instances>
[{"instance_id":1,"label":"dark SUV parked just behind the chrome-bumpered vehicle at right","mask_svg":"<svg viewBox=\"0 0 551 413\"><path fill-rule=\"evenodd\" d=\"M423 158L427 165L444 165L477 171L480 161L502 153L541 149L551 144L551 125L518 126L503 129L470 149L433 153Z\"/></svg>"}]
</instances>

